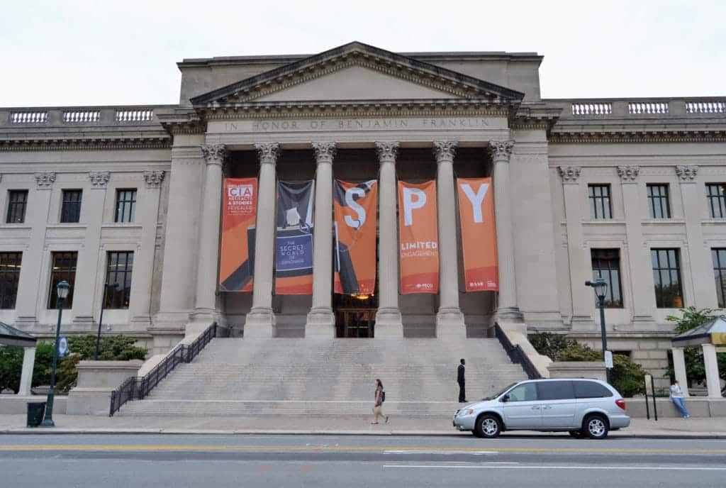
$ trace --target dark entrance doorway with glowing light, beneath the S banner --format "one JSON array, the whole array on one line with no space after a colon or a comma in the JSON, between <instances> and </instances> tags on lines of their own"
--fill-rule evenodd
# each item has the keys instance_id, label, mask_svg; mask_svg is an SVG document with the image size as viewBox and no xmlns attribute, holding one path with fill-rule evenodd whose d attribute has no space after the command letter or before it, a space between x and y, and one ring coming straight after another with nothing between
<instances>
[{"instance_id":1,"label":"dark entrance doorway with glowing light, beneath the S banner","mask_svg":"<svg viewBox=\"0 0 726 488\"><path fill-rule=\"evenodd\" d=\"M333 298L335 310L335 337L372 338L378 296L338 295Z\"/></svg>"}]
</instances>

